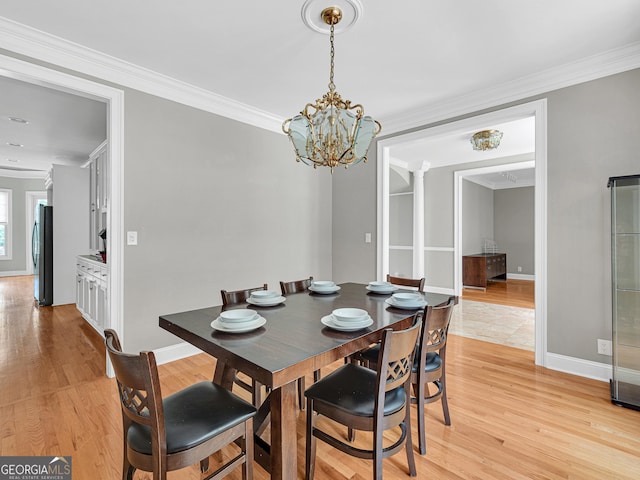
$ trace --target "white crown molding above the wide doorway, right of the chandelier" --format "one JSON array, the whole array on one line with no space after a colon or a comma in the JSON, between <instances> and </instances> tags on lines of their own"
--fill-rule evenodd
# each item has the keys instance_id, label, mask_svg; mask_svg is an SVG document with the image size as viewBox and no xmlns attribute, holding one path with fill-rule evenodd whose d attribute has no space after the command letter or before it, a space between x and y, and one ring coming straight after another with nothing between
<instances>
[{"instance_id":1,"label":"white crown molding above the wide doorway, right of the chandelier","mask_svg":"<svg viewBox=\"0 0 640 480\"><path fill-rule=\"evenodd\" d=\"M385 136L640 68L640 42L382 119Z\"/></svg>"}]
</instances>

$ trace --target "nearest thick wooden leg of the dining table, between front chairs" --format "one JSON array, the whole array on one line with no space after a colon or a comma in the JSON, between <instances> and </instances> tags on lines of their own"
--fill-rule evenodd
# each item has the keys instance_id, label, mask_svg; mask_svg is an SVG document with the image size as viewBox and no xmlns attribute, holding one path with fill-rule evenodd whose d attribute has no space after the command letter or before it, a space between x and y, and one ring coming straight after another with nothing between
<instances>
[{"instance_id":1,"label":"nearest thick wooden leg of the dining table, between front chairs","mask_svg":"<svg viewBox=\"0 0 640 480\"><path fill-rule=\"evenodd\" d=\"M271 392L271 478L298 478L296 435L296 382Z\"/></svg>"}]
</instances>

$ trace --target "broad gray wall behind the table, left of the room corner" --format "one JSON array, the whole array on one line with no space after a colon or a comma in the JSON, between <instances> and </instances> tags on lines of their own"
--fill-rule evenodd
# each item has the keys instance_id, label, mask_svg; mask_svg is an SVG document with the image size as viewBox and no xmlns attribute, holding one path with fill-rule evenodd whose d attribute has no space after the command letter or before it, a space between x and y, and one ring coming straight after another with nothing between
<instances>
[{"instance_id":1,"label":"broad gray wall behind the table, left of the room corner","mask_svg":"<svg viewBox=\"0 0 640 480\"><path fill-rule=\"evenodd\" d=\"M127 349L177 343L158 315L221 289L332 278L331 174L284 135L126 90L124 174Z\"/></svg>"}]
</instances>

